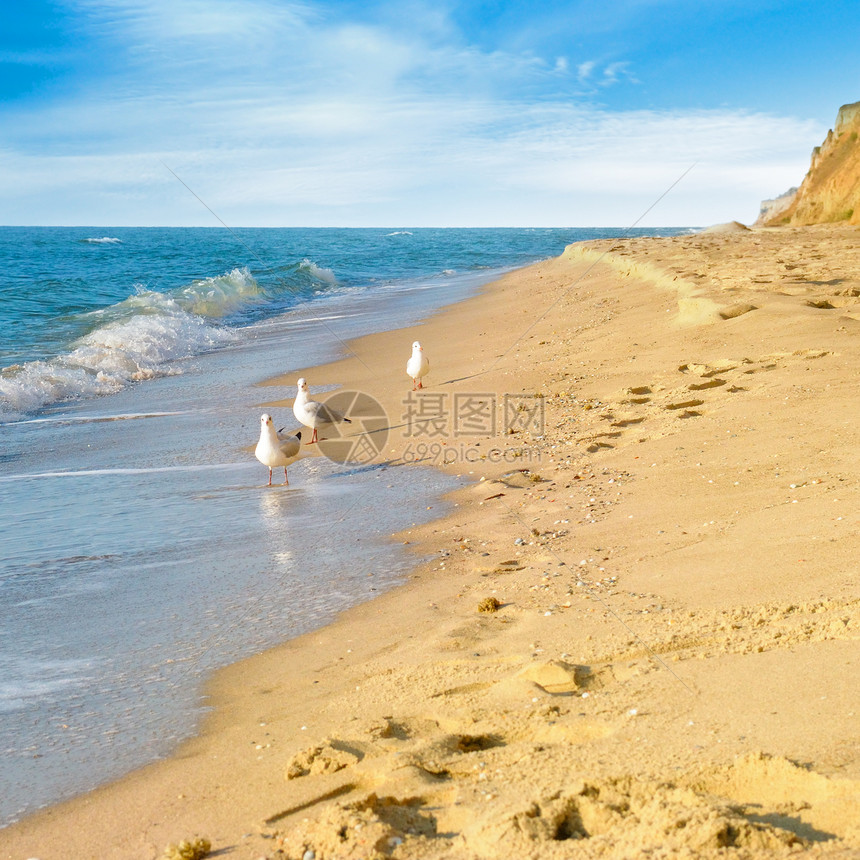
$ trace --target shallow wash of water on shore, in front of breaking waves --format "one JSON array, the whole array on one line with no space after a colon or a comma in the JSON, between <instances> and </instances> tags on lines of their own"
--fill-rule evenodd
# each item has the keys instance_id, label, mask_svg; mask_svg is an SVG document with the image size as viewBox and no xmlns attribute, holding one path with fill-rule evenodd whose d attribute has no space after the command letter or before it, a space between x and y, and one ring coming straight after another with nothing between
<instances>
[{"instance_id":1,"label":"shallow wash of water on shore, in front of breaking waves","mask_svg":"<svg viewBox=\"0 0 860 860\"><path fill-rule=\"evenodd\" d=\"M246 450L257 404L294 393L254 383L388 319L349 305L325 328L317 314L259 324L181 375L0 427L0 821L169 753L212 670L413 563L387 538L439 513L453 481L313 457L268 488Z\"/></svg>"}]
</instances>

